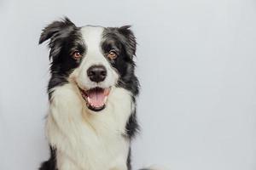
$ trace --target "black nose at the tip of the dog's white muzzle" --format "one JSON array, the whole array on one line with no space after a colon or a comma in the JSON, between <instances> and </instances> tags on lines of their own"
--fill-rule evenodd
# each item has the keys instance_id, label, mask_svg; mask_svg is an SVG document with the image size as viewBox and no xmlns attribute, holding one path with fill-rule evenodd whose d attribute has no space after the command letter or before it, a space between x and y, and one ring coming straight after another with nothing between
<instances>
[{"instance_id":1,"label":"black nose at the tip of the dog's white muzzle","mask_svg":"<svg viewBox=\"0 0 256 170\"><path fill-rule=\"evenodd\" d=\"M103 65L92 65L87 70L87 75L92 82L102 82L107 77L107 71Z\"/></svg>"}]
</instances>

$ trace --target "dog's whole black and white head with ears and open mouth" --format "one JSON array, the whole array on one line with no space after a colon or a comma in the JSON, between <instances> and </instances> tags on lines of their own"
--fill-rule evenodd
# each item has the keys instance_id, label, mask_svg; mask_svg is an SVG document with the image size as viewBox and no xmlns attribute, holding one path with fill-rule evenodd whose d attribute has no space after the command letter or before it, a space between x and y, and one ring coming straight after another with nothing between
<instances>
[{"instance_id":1,"label":"dog's whole black and white head with ears and open mouth","mask_svg":"<svg viewBox=\"0 0 256 170\"><path fill-rule=\"evenodd\" d=\"M48 39L52 59L49 95L56 86L74 82L84 104L91 111L102 111L114 86L137 94L136 40L129 26L77 27L66 18L44 28L39 43Z\"/></svg>"}]
</instances>

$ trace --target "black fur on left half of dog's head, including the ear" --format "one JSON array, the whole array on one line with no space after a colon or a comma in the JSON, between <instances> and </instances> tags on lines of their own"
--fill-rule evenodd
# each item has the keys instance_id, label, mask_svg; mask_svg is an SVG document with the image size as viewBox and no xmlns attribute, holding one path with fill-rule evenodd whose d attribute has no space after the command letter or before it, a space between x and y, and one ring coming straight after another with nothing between
<instances>
[{"instance_id":1,"label":"black fur on left half of dog's head, including the ear","mask_svg":"<svg viewBox=\"0 0 256 170\"><path fill-rule=\"evenodd\" d=\"M68 75L80 64L81 59L73 59L73 51L78 50L80 54L84 54L85 45L80 28L67 18L54 21L44 28L39 44L47 40L49 40L49 59L51 59L51 78L48 86L50 99L51 89L67 83Z\"/></svg>"}]
</instances>

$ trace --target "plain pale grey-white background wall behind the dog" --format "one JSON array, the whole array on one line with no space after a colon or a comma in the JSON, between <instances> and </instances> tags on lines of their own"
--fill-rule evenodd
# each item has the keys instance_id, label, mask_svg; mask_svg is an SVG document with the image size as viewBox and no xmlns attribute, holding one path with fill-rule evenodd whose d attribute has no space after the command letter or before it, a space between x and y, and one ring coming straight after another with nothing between
<instances>
[{"instance_id":1,"label":"plain pale grey-white background wall behind the dog","mask_svg":"<svg viewBox=\"0 0 256 170\"><path fill-rule=\"evenodd\" d=\"M132 25L142 84L133 167L256 169L254 0L0 1L0 169L35 170L44 138L44 26Z\"/></svg>"}]
</instances>

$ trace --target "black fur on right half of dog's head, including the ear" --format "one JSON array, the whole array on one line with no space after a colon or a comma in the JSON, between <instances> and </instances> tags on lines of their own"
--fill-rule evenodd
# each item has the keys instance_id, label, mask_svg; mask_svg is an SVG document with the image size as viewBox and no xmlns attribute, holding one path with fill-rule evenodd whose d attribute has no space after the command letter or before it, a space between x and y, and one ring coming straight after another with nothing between
<instances>
[{"instance_id":1,"label":"black fur on right half of dog's head, including the ear","mask_svg":"<svg viewBox=\"0 0 256 170\"><path fill-rule=\"evenodd\" d=\"M134 74L135 63L133 61L136 55L136 45L136 38L130 26L108 27L103 32L103 53L108 54L113 49L118 54L116 59L108 59L119 72L118 86L131 91L133 96L139 93L139 82Z\"/></svg>"}]
</instances>

